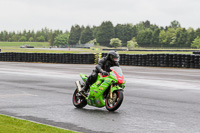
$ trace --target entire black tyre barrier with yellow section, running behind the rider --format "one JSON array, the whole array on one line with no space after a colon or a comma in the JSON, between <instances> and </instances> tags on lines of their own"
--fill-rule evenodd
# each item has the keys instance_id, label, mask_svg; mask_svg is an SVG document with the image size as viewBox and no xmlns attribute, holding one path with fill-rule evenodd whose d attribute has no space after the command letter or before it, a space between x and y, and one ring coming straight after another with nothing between
<instances>
[{"instance_id":1,"label":"entire black tyre barrier with yellow section, running behind the rider","mask_svg":"<svg viewBox=\"0 0 200 133\"><path fill-rule=\"evenodd\" d=\"M0 53L0 61L97 64L107 53ZM200 68L200 54L120 54L120 65Z\"/></svg>"}]
</instances>

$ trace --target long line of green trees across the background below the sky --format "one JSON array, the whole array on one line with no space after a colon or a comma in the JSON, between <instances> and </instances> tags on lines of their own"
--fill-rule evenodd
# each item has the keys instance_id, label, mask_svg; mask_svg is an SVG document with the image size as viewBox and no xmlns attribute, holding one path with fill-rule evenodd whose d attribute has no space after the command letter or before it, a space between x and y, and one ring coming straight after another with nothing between
<instances>
[{"instance_id":1,"label":"long line of green trees across the background below the sky","mask_svg":"<svg viewBox=\"0 0 200 133\"><path fill-rule=\"evenodd\" d=\"M140 47L197 47L200 44L200 28L184 28L174 20L169 26L158 26L150 21L138 24L117 24L111 21L102 22L99 26L73 25L70 31L44 28L38 31L0 32L0 41L50 42L51 46L76 45L94 43L101 46L113 46L112 42L120 42L127 46L134 40ZM113 40L113 39L117 39ZM116 43L115 43L116 44ZM119 46L120 46L119 45ZM118 45L115 45L118 46Z\"/></svg>"}]
</instances>

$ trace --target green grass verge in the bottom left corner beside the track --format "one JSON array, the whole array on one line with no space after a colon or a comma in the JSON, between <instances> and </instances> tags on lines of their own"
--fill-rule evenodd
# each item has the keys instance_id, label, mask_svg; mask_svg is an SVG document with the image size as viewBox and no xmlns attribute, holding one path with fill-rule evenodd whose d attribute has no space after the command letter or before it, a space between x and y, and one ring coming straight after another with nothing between
<instances>
[{"instance_id":1,"label":"green grass verge in the bottom left corner beside the track","mask_svg":"<svg viewBox=\"0 0 200 133\"><path fill-rule=\"evenodd\" d=\"M76 133L69 130L37 124L0 115L0 133Z\"/></svg>"}]
</instances>

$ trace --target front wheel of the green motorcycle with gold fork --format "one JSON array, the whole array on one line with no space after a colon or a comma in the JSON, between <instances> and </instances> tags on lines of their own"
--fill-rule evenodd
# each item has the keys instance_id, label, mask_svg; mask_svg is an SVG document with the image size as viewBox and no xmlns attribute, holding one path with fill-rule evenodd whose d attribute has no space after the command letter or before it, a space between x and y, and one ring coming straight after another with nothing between
<instances>
[{"instance_id":1,"label":"front wheel of the green motorcycle with gold fork","mask_svg":"<svg viewBox=\"0 0 200 133\"><path fill-rule=\"evenodd\" d=\"M117 110L122 104L123 98L124 94L121 90L114 91L112 99L110 98L110 95L106 98L106 109L108 111Z\"/></svg>"}]
</instances>

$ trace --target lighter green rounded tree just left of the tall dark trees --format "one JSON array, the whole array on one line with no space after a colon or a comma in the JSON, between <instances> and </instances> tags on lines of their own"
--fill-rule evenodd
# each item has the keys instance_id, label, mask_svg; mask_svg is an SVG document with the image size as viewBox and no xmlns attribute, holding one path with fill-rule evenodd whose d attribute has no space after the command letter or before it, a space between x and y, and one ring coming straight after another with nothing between
<instances>
[{"instance_id":1,"label":"lighter green rounded tree just left of the tall dark trees","mask_svg":"<svg viewBox=\"0 0 200 133\"><path fill-rule=\"evenodd\" d=\"M68 44L68 39L69 39L69 34L58 35L55 38L54 45L56 45L56 46L65 45L66 46Z\"/></svg>"}]
</instances>

